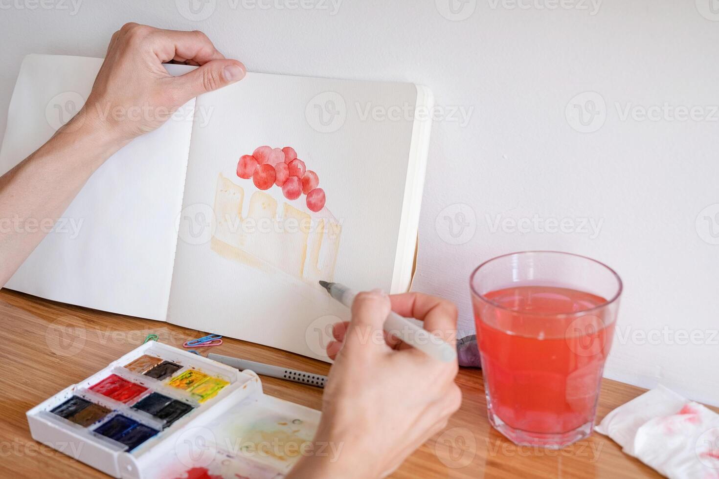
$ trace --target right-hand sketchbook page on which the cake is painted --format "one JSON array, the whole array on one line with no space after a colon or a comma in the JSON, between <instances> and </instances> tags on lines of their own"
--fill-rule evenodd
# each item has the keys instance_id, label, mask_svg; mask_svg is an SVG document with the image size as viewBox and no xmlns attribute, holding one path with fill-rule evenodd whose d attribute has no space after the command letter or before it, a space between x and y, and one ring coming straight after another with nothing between
<instances>
[{"instance_id":1,"label":"right-hand sketchbook page on which the cake is painted","mask_svg":"<svg viewBox=\"0 0 719 479\"><path fill-rule=\"evenodd\" d=\"M327 325L349 312L317 280L392 285L416 99L412 84L260 73L198 98L211 114L193 130L168 321L326 360ZM404 106L392 119L371 111ZM323 210L237 176L239 157L263 145L296 150L319 176ZM334 218L339 236L324 236L314 261L318 229L305 241L288 220L247 221L262 215Z\"/></svg>"}]
</instances>

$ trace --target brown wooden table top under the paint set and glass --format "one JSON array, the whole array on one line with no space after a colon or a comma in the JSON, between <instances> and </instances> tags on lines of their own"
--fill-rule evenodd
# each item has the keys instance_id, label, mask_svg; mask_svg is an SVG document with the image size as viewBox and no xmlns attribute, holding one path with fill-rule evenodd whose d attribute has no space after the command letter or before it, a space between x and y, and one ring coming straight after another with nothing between
<instances>
[{"instance_id":1,"label":"brown wooden table top under the paint set and glass","mask_svg":"<svg viewBox=\"0 0 719 479\"><path fill-rule=\"evenodd\" d=\"M154 332L160 342L181 347L206 332L38 299L0 290L0 477L99 478L97 470L30 437L25 412L70 384L104 368ZM326 374L329 365L282 350L226 339L216 353ZM321 389L262 377L273 396L315 409ZM636 478L659 477L600 434L561 451L518 447L487 421L482 372L464 368L457 383L462 409L444 432L426 442L393 478ZM644 389L605 379L597 411L600 420Z\"/></svg>"}]
</instances>

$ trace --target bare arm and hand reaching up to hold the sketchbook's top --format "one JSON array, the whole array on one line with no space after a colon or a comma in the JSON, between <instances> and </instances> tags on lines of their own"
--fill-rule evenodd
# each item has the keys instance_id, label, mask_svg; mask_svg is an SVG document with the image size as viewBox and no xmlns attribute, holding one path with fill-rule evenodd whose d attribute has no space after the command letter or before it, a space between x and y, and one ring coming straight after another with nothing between
<instances>
[{"instance_id":1,"label":"bare arm and hand reaching up to hold the sketchbook's top","mask_svg":"<svg viewBox=\"0 0 719 479\"><path fill-rule=\"evenodd\" d=\"M200 65L173 77L166 62ZM0 177L0 287L42 241L73 197L114 152L157 129L201 93L244 77L244 65L226 59L201 32L125 24L112 36L85 107L37 152ZM153 114L100 119L101 111ZM144 111L144 110L142 110Z\"/></svg>"}]
</instances>

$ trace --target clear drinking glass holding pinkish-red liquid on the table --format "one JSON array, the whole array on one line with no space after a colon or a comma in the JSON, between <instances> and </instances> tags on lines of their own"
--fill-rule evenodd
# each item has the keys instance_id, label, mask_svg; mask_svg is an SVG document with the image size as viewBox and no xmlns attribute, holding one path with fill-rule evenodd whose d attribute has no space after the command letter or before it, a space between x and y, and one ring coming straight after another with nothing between
<instances>
[{"instance_id":1,"label":"clear drinking glass holding pinkish-red liquid on the table","mask_svg":"<svg viewBox=\"0 0 719 479\"><path fill-rule=\"evenodd\" d=\"M490 423L558 449L594 426L622 292L605 264L559 251L490 259L470 276Z\"/></svg>"}]
</instances>

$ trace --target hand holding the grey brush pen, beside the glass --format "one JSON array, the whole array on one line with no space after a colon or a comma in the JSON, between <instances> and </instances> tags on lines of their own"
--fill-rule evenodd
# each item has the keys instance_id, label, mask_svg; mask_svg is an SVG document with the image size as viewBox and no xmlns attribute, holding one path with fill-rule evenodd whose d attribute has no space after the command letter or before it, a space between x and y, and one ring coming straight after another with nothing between
<instances>
[{"instance_id":1,"label":"hand holding the grey brush pen, beside the glass","mask_svg":"<svg viewBox=\"0 0 719 479\"><path fill-rule=\"evenodd\" d=\"M396 338L383 338L390 309L423 320L426 330L454 345L457 308L451 302L418 293L358 294L352 321L335 325L336 342L327 347L336 361L313 440L339 455L302 457L288 478L384 477L459 409L457 361L436 361Z\"/></svg>"}]
</instances>

